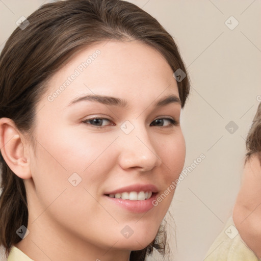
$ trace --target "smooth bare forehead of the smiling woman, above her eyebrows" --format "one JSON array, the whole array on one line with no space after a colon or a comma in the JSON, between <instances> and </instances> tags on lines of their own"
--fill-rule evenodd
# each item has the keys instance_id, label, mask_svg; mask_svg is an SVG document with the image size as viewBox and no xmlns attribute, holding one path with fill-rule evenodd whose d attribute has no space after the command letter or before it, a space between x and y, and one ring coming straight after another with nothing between
<instances>
[{"instance_id":1,"label":"smooth bare forehead of the smiling woman, above her eyebrows","mask_svg":"<svg viewBox=\"0 0 261 261\"><path fill-rule=\"evenodd\" d=\"M155 99L176 94L173 71L159 51L139 41L100 42L82 49L49 80L45 96L60 108L82 94ZM143 99L145 101L145 97ZM48 105L48 102L47 102Z\"/></svg>"}]
</instances>

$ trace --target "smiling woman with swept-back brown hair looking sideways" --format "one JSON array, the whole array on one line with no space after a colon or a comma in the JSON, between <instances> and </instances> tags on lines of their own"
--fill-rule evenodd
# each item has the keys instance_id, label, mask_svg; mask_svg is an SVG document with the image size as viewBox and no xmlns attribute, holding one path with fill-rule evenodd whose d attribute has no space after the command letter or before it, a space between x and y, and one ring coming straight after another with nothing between
<instances>
[{"instance_id":1,"label":"smiling woman with swept-back brown hair looking sideways","mask_svg":"<svg viewBox=\"0 0 261 261\"><path fill-rule=\"evenodd\" d=\"M59 1L27 20L0 57L8 261L164 255L189 94L173 38L116 0Z\"/></svg>"}]
</instances>

